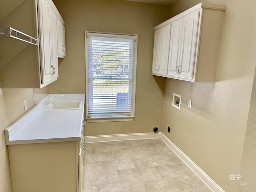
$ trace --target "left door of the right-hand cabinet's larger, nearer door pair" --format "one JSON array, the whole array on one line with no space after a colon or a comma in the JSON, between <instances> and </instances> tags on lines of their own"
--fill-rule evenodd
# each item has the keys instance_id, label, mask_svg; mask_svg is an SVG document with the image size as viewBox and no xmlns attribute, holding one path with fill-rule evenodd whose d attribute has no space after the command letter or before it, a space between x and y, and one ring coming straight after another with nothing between
<instances>
[{"instance_id":1,"label":"left door of the right-hand cabinet's larger, nearer door pair","mask_svg":"<svg viewBox=\"0 0 256 192\"><path fill-rule=\"evenodd\" d=\"M182 38L182 21L183 19L178 19L172 23L168 76L178 76L178 66L180 62L180 45Z\"/></svg>"}]
</instances>

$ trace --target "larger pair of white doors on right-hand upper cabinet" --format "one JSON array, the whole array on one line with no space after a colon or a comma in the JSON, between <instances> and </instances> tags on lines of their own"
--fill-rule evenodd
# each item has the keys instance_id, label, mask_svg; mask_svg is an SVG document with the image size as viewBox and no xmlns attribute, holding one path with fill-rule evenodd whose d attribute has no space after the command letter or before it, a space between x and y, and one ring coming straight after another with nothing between
<instances>
[{"instance_id":1,"label":"larger pair of white doors on right-hand upper cabinet","mask_svg":"<svg viewBox=\"0 0 256 192\"><path fill-rule=\"evenodd\" d=\"M168 76L192 79L199 11L173 22Z\"/></svg>"}]
</instances>

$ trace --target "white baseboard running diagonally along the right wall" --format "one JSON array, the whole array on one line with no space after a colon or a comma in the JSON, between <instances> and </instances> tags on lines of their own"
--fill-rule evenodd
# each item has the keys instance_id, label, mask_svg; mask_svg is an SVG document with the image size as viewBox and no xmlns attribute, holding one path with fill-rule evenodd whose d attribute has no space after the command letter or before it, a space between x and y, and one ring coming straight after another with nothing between
<instances>
[{"instance_id":1,"label":"white baseboard running diagonally along the right wall","mask_svg":"<svg viewBox=\"0 0 256 192\"><path fill-rule=\"evenodd\" d=\"M214 182L200 167L198 167L184 152L182 152L171 140L162 134L162 140L173 150L173 152L208 186L212 192L225 192Z\"/></svg>"}]
</instances>

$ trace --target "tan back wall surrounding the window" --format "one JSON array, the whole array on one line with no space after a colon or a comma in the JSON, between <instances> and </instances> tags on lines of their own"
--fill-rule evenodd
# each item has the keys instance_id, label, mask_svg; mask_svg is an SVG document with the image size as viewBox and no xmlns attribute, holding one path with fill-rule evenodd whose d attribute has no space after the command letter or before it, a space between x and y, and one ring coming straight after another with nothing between
<instances>
[{"instance_id":1,"label":"tan back wall surrounding the window","mask_svg":"<svg viewBox=\"0 0 256 192\"><path fill-rule=\"evenodd\" d=\"M120 0L54 0L66 26L66 58L52 93L85 93L84 31L138 34L135 119L87 123L86 136L152 132L161 128L164 78L153 77L154 26L170 18L170 6Z\"/></svg>"}]
</instances>

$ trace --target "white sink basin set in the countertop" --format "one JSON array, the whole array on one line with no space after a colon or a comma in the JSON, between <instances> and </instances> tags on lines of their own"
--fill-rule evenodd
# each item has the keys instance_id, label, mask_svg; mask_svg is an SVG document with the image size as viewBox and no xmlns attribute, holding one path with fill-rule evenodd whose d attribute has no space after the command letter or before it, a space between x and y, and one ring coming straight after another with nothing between
<instances>
[{"instance_id":1,"label":"white sink basin set in the countertop","mask_svg":"<svg viewBox=\"0 0 256 192\"><path fill-rule=\"evenodd\" d=\"M43 110L67 110L80 109L81 101L55 101L52 105L47 104Z\"/></svg>"}]
</instances>

